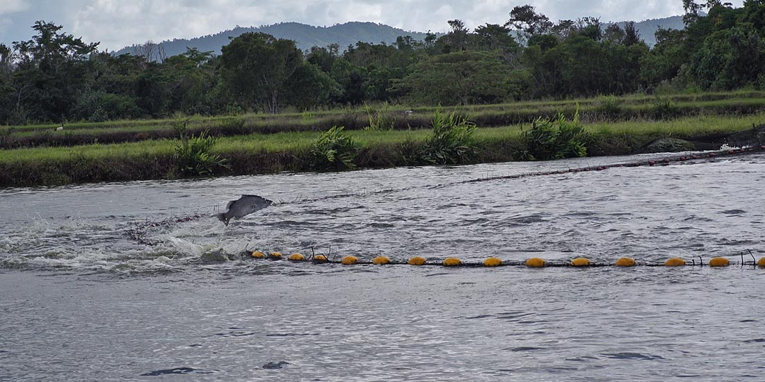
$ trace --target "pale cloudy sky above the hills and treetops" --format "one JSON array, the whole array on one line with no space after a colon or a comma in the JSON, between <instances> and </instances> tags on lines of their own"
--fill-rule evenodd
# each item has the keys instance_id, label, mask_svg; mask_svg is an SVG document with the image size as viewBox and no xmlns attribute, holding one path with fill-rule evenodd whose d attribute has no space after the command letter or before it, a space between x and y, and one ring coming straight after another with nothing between
<instances>
[{"instance_id":1,"label":"pale cloudy sky above the hills and treetops","mask_svg":"<svg viewBox=\"0 0 765 382\"><path fill-rule=\"evenodd\" d=\"M741 2L733 1L736 7ZM504 24L513 7L525 4L553 21L584 16L643 21L682 14L681 0L0 0L0 42L28 40L36 20L63 25L86 42L100 41L102 50L282 21L318 26L373 21L438 32L454 18L469 28Z\"/></svg>"}]
</instances>

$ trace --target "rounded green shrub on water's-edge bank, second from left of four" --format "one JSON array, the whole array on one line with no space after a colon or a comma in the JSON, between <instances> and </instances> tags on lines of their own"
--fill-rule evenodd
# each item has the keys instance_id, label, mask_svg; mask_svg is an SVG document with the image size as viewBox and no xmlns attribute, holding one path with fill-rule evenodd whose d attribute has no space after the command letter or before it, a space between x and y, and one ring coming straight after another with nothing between
<instances>
[{"instance_id":1,"label":"rounded green shrub on water's-edge bank, second from left of four","mask_svg":"<svg viewBox=\"0 0 765 382\"><path fill-rule=\"evenodd\" d=\"M311 147L312 166L316 169L355 168L353 160L359 149L359 144L343 133L343 126L333 126L324 131Z\"/></svg>"}]
</instances>

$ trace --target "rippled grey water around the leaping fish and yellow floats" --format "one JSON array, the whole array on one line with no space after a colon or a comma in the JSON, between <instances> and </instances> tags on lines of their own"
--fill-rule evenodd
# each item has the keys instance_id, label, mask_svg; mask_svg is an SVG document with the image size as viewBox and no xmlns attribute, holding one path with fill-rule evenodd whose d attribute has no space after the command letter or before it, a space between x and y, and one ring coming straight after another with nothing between
<instances>
[{"instance_id":1,"label":"rippled grey water around the leaping fish and yellow floats","mask_svg":"<svg viewBox=\"0 0 765 382\"><path fill-rule=\"evenodd\" d=\"M759 268L236 256L765 254L763 154L491 179L645 159L0 190L0 380L763 380Z\"/></svg>"}]
</instances>

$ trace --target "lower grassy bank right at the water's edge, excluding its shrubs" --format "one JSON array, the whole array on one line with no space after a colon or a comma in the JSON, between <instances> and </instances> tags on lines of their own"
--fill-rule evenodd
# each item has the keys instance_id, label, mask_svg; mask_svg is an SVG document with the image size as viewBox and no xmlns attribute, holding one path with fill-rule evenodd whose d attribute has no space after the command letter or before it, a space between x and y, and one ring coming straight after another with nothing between
<instances>
[{"instance_id":1,"label":"lower grassy bank right at the water's edge, excluding its shrubs","mask_svg":"<svg viewBox=\"0 0 765 382\"><path fill-rule=\"evenodd\" d=\"M632 154L659 138L723 141L726 134L744 131L765 121L765 114L702 115L669 121L619 121L585 124L591 135L589 155ZM529 125L480 127L473 135L475 151L463 163L522 159ZM210 150L226 160L213 176L316 168L311 147L321 133L293 131L219 138ZM430 137L428 129L405 131L347 131L360 144L356 167L423 164L412 156ZM67 183L175 179L182 177L174 162L177 139L71 147L31 147L0 150L0 186L41 186Z\"/></svg>"}]
</instances>

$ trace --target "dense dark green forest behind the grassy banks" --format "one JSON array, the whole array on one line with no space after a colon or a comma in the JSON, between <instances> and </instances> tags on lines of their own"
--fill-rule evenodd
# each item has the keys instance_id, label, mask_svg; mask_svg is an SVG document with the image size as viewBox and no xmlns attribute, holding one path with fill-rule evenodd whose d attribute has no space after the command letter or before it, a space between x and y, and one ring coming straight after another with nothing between
<instances>
[{"instance_id":1,"label":"dense dark green forest behind the grassy banks","mask_svg":"<svg viewBox=\"0 0 765 382\"><path fill-rule=\"evenodd\" d=\"M31 40L0 44L0 124L765 89L765 0L682 2L685 28L656 31L653 48L633 23L555 23L530 5L513 8L503 25L470 31L451 20L441 37L396 44L304 52L248 33L220 55L173 57L151 43L114 55L37 21Z\"/></svg>"}]
</instances>

